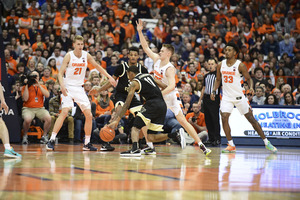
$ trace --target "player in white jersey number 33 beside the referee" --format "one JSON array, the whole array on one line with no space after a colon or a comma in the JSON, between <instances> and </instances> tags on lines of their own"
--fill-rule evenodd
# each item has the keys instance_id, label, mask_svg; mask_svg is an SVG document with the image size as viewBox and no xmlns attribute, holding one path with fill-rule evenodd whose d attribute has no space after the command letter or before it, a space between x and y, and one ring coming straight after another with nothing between
<instances>
[{"instance_id":1,"label":"player in white jersey number 33 beside the referee","mask_svg":"<svg viewBox=\"0 0 300 200\"><path fill-rule=\"evenodd\" d=\"M211 94L211 99L215 100L216 90L219 88L221 81L223 86L223 97L220 105L223 130L228 140L228 146L222 153L234 153L236 151L235 145L232 141L230 126L228 123L229 116L235 106L239 112L244 115L251 123L254 130L263 139L266 149L277 152L274 147L264 135L260 124L255 120L251 107L247 98L244 95L242 86L243 77L247 80L250 90L253 91L253 82L247 71L247 67L236 59L239 49L235 43L228 43L225 47L225 60L218 64L217 77L214 84L214 89Z\"/></svg>"}]
</instances>

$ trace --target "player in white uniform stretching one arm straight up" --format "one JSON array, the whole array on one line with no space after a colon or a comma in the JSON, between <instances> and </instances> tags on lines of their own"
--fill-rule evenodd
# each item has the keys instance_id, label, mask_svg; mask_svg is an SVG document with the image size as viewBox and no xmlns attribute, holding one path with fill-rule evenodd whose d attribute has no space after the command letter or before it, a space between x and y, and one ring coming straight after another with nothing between
<instances>
[{"instance_id":1,"label":"player in white uniform stretching one arm straight up","mask_svg":"<svg viewBox=\"0 0 300 200\"><path fill-rule=\"evenodd\" d=\"M167 104L167 107L175 114L176 119L181 124L181 126L188 132L188 134L194 138L194 140L199 145L200 149L205 155L210 154L211 150L207 149L202 143L200 138L197 135L197 132L193 126L188 123L184 117L181 110L181 101L179 98L179 93L175 85L175 67L170 63L170 58L174 53L174 47L169 44L164 44L161 48L159 54L154 53L148 46L147 41L142 33L143 22L141 19L137 22L137 31L140 37L141 45L146 54L154 62L154 77L158 79L157 84L164 88L164 85L167 85L166 88L162 90L162 95Z\"/></svg>"}]
</instances>

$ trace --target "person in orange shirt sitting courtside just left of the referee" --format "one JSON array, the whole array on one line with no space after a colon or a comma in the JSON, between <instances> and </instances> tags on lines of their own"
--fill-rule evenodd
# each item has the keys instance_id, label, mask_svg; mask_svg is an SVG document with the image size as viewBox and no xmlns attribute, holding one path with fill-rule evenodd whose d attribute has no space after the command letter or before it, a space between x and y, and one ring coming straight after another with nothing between
<instances>
[{"instance_id":1,"label":"person in orange shirt sitting courtside just left of the referee","mask_svg":"<svg viewBox=\"0 0 300 200\"><path fill-rule=\"evenodd\" d=\"M203 140L204 135L208 135L206 130L206 124L204 119L204 114L200 112L201 105L199 105L197 102L193 103L192 111L191 113L188 113L186 115L186 120L192 124L196 132L198 133L198 137ZM190 137L189 135L186 135L186 142L193 143L194 139Z\"/></svg>"}]
</instances>

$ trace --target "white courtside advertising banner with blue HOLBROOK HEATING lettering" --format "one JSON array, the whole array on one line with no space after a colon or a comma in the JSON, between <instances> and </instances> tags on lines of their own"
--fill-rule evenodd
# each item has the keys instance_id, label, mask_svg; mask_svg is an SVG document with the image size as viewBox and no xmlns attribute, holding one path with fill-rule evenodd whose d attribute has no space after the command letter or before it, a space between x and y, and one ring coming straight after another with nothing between
<instances>
[{"instance_id":1,"label":"white courtside advertising banner with blue HOLBROOK HEATING lettering","mask_svg":"<svg viewBox=\"0 0 300 200\"><path fill-rule=\"evenodd\" d=\"M255 107L252 111L268 138L300 138L300 107ZM233 137L259 137L236 108L230 115L229 124ZM221 136L225 136L223 130Z\"/></svg>"}]
</instances>

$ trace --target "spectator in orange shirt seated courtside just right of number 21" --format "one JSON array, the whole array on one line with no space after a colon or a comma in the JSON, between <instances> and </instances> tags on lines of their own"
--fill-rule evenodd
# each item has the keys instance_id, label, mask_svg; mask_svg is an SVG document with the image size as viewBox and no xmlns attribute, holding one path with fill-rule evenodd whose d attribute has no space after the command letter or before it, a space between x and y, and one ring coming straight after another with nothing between
<instances>
[{"instance_id":1,"label":"spectator in orange shirt seated courtside just right of number 21","mask_svg":"<svg viewBox=\"0 0 300 200\"><path fill-rule=\"evenodd\" d=\"M110 100L107 90L100 92L96 105L96 122L97 127L100 129L109 122L111 110L114 108L114 103Z\"/></svg>"}]
</instances>

